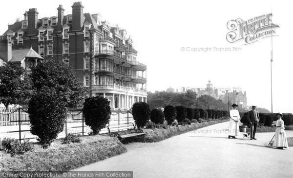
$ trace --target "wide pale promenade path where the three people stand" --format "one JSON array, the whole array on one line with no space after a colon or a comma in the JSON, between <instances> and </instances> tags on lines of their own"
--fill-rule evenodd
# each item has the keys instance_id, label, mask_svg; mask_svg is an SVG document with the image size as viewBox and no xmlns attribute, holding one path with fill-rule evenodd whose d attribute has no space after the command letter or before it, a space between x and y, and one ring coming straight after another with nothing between
<instances>
[{"instance_id":1,"label":"wide pale promenade path where the three people stand","mask_svg":"<svg viewBox=\"0 0 293 178\"><path fill-rule=\"evenodd\" d=\"M156 143L127 144L127 153L73 171L133 171L134 178L293 177L293 147L266 147L274 133L256 133L257 140L242 140L242 133L228 139L228 125L210 125ZM293 131L286 134L293 137Z\"/></svg>"}]
</instances>

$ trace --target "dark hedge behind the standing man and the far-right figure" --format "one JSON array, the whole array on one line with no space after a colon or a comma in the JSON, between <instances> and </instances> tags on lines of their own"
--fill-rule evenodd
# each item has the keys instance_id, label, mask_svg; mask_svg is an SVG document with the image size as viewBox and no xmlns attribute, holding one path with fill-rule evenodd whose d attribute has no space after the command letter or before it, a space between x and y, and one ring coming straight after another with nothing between
<instances>
[{"instance_id":1,"label":"dark hedge behind the standing man and the far-right figure","mask_svg":"<svg viewBox=\"0 0 293 178\"><path fill-rule=\"evenodd\" d=\"M259 124L271 126L273 121L276 121L277 116L275 113L259 113ZM282 120L284 121L284 125L293 125L293 114L292 113L283 113ZM249 125L247 121L247 112L243 114L241 120L243 125Z\"/></svg>"}]
</instances>

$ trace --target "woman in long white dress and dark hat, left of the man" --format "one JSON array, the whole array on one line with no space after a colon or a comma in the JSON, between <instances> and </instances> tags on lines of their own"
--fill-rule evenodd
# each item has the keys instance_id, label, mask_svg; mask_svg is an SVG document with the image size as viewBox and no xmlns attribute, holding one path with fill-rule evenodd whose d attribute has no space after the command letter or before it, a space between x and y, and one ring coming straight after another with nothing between
<instances>
[{"instance_id":1,"label":"woman in long white dress and dark hat, left of the man","mask_svg":"<svg viewBox=\"0 0 293 178\"><path fill-rule=\"evenodd\" d=\"M230 110L230 125L229 125L228 138L236 139L235 136L240 135L239 122L238 122L240 120L240 115L238 110L236 110L236 107L238 107L238 105L233 104L232 107L233 109Z\"/></svg>"}]
</instances>

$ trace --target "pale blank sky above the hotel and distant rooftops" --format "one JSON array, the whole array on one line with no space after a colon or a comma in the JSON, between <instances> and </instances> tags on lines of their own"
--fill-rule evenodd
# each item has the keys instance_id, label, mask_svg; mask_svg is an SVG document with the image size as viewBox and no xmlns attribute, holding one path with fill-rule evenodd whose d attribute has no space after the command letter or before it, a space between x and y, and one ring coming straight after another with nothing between
<instances>
[{"instance_id":1,"label":"pale blank sky above the hotel and distant rooftops","mask_svg":"<svg viewBox=\"0 0 293 178\"><path fill-rule=\"evenodd\" d=\"M3 1L0 34L23 19L29 8L37 8L39 18L57 16L63 4L64 14L71 14L76 0ZM102 18L126 29L139 52L138 61L147 65L146 89L169 87L204 88L211 81L215 88L238 88L247 92L248 105L271 111L271 50L273 112L293 112L291 4L285 0L82 0L84 13L101 13ZM11 7L11 8L10 8ZM227 22L248 20L273 14L279 25L272 38L249 45L244 41L229 43ZM273 45L272 45L273 44ZM273 46L273 47L272 47ZM191 49L209 48L207 52ZM221 50L223 48L223 50ZM240 49L233 51L233 48ZM220 49L220 50L217 50ZM231 51L225 51L230 49Z\"/></svg>"}]
</instances>

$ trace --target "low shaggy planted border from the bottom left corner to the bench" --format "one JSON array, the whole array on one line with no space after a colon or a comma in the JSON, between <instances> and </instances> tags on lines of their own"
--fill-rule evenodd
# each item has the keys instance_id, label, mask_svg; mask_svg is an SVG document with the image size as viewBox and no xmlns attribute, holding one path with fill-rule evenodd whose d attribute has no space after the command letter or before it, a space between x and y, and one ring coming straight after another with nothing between
<instances>
[{"instance_id":1,"label":"low shaggy planted border from the bottom left corner to the bench","mask_svg":"<svg viewBox=\"0 0 293 178\"><path fill-rule=\"evenodd\" d=\"M33 151L22 155L11 156L2 150L0 171L65 172L126 151L125 145L116 138L96 135L81 137L79 140L72 137L56 140L47 149L42 149L40 144L34 144Z\"/></svg>"}]
</instances>

